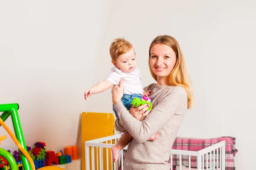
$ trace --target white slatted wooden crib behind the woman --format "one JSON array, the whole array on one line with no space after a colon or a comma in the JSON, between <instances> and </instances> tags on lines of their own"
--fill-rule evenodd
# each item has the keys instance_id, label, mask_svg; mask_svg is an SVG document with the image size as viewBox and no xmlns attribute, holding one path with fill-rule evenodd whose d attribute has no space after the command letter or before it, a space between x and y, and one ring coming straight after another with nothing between
<instances>
[{"instance_id":1,"label":"white slatted wooden crib behind the woman","mask_svg":"<svg viewBox=\"0 0 256 170\"><path fill-rule=\"evenodd\" d=\"M85 142L85 166L86 170L118 170L123 167L123 150L120 151L118 162L112 161L111 147L116 144L121 134L107 136ZM219 154L215 154L216 153ZM182 170L182 157L188 157L188 169L191 170L191 156L197 158L197 170L208 170L210 167L217 167L214 170L225 170L225 141L218 142L199 151L172 150L173 155L179 156L180 170ZM216 159L215 159L216 155ZM209 159L208 159L209 156ZM218 158L219 157L219 158ZM204 161L203 161L204 160ZM214 161L215 160L215 161ZM207 163L205 163L207 162ZM170 159L172 169L173 161ZM211 169L211 168L210 168ZM211 169L212 170L212 169Z\"/></svg>"}]
</instances>

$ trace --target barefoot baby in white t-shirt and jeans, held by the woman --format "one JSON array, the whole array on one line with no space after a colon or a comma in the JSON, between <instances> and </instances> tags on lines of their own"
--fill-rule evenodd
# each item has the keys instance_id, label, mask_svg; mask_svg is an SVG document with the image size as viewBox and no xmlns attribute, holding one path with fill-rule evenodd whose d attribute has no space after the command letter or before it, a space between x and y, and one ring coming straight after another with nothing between
<instances>
[{"instance_id":1,"label":"barefoot baby in white t-shirt and jeans, held by the woman","mask_svg":"<svg viewBox=\"0 0 256 170\"><path fill-rule=\"evenodd\" d=\"M142 99L143 95L149 96L150 91L143 91L140 71L137 68L135 51L130 42L123 38L117 38L111 43L109 51L114 67L111 69L107 79L99 82L97 85L84 92L84 99L87 100L87 98L93 94L105 91L113 85L118 85L120 79L123 79L124 95L121 101L129 110L131 108L131 102L135 97ZM116 118L119 119L114 106L113 111ZM156 133L148 140L156 140L158 137L159 133ZM114 162L118 160L120 150L129 144L131 139L132 136L126 132L120 137L116 145L111 147Z\"/></svg>"}]
</instances>

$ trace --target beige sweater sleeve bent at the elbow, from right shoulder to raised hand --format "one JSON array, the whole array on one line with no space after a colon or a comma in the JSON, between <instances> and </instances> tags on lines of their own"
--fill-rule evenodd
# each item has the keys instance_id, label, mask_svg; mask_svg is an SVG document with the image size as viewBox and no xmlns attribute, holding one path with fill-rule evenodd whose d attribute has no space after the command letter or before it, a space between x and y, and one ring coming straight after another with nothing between
<instances>
[{"instance_id":1,"label":"beige sweater sleeve bent at the elbow, from right shoulder to raised hand","mask_svg":"<svg viewBox=\"0 0 256 170\"><path fill-rule=\"evenodd\" d=\"M140 121L132 116L125 108L122 102L116 103L114 108L119 116L120 121L118 125L124 127L128 133L139 143L146 142L153 134L160 131L163 126L177 113L177 111L183 111L187 105L186 91L181 88L175 88L171 90L169 94L166 94L157 105L151 110L151 112ZM119 127L119 130L121 128Z\"/></svg>"}]
</instances>

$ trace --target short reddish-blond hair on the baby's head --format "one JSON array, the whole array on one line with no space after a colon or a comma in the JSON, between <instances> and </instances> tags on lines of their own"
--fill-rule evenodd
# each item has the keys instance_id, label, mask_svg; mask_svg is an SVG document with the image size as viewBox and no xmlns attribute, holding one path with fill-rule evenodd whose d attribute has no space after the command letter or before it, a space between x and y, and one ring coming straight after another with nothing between
<instances>
[{"instance_id":1,"label":"short reddish-blond hair on the baby's head","mask_svg":"<svg viewBox=\"0 0 256 170\"><path fill-rule=\"evenodd\" d=\"M119 55L127 53L131 48L133 48L133 46L130 42L124 38L116 38L109 48L111 59L115 61Z\"/></svg>"}]
</instances>

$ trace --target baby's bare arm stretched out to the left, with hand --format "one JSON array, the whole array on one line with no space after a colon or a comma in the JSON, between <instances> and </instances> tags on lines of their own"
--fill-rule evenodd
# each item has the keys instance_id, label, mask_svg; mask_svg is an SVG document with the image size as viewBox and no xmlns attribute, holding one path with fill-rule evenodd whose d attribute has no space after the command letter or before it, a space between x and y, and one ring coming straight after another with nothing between
<instances>
[{"instance_id":1,"label":"baby's bare arm stretched out to the left, with hand","mask_svg":"<svg viewBox=\"0 0 256 170\"><path fill-rule=\"evenodd\" d=\"M102 91L107 90L108 88L111 88L113 86L113 83L108 81L108 80L103 80L101 82L98 82L98 84L96 84L95 86L93 86L92 88L87 89L84 92L84 99L87 100L87 98L93 94L97 94L100 93Z\"/></svg>"}]
</instances>

